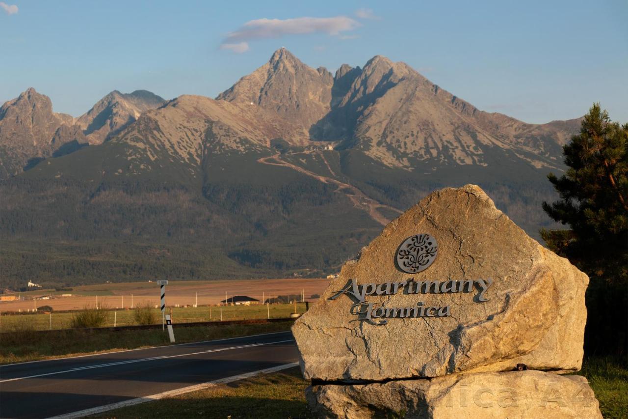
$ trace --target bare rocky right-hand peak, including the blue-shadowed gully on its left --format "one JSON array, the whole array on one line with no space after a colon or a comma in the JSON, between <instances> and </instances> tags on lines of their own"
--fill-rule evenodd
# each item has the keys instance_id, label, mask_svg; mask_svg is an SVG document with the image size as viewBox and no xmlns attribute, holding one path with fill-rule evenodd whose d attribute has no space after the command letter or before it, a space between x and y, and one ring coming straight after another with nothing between
<instances>
[{"instance_id":1,"label":"bare rocky right-hand peak, including the blue-shadowed gully on its left","mask_svg":"<svg viewBox=\"0 0 628 419\"><path fill-rule=\"evenodd\" d=\"M579 125L579 120L533 125L485 113L386 57L374 57L361 70L344 70L349 71L351 86L319 124L323 137L340 132L344 147L362 147L389 166L411 167L408 158L485 165L483 155L496 147L535 167L556 168L561 145Z\"/></svg>"}]
</instances>

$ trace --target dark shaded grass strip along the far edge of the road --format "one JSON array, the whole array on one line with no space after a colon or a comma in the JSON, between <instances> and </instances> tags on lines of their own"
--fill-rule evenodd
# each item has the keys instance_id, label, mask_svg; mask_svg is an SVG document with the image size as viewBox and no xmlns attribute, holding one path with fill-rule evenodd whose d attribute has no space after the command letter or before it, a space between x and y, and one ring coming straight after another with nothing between
<instances>
[{"instance_id":1,"label":"dark shaded grass strip along the far edge of the road","mask_svg":"<svg viewBox=\"0 0 628 419\"><path fill-rule=\"evenodd\" d=\"M217 325L176 328L176 343L200 342L289 330L292 321L253 325ZM38 333L23 329L0 333L0 364L114 350L169 345L162 330L57 330Z\"/></svg>"}]
</instances>

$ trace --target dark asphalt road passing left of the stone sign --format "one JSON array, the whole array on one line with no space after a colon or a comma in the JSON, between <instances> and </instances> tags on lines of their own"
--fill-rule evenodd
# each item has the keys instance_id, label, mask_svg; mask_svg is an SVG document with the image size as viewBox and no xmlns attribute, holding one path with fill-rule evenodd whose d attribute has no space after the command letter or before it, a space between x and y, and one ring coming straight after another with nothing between
<instances>
[{"instance_id":1,"label":"dark asphalt road passing left of the stone sign","mask_svg":"<svg viewBox=\"0 0 628 419\"><path fill-rule=\"evenodd\" d=\"M46 418L298 360L291 332L0 366L0 417Z\"/></svg>"}]
</instances>

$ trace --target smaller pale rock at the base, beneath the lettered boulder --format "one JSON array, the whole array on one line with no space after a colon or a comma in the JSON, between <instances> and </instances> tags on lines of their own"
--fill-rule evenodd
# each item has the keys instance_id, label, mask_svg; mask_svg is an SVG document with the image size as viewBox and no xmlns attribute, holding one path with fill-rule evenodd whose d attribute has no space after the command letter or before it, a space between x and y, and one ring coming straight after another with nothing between
<instances>
[{"instance_id":1,"label":"smaller pale rock at the base, beneath the lettered boulder","mask_svg":"<svg viewBox=\"0 0 628 419\"><path fill-rule=\"evenodd\" d=\"M306 396L320 418L602 418L585 377L542 371L314 385Z\"/></svg>"}]
</instances>

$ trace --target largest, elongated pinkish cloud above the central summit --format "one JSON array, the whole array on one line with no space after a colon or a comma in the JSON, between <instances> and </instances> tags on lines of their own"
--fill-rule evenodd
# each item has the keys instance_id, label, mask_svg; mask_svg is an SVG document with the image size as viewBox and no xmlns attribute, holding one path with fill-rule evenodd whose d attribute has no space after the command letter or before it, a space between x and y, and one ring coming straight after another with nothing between
<instances>
[{"instance_id":1,"label":"largest, elongated pinkish cloud above the central summit","mask_svg":"<svg viewBox=\"0 0 628 419\"><path fill-rule=\"evenodd\" d=\"M227 35L220 45L222 49L245 52L249 49L247 41L264 38L281 38L286 35L306 33L326 33L339 35L341 32L354 30L360 23L347 16L332 18L294 18L294 19L256 19L242 25L237 31Z\"/></svg>"}]
</instances>

